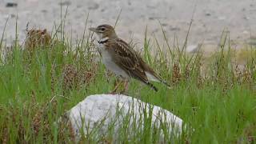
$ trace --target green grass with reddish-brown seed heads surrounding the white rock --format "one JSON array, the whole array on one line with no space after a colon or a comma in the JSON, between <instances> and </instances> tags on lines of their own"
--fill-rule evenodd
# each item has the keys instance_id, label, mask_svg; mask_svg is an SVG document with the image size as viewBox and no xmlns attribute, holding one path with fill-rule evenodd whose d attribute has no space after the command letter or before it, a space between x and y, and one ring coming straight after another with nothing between
<instances>
[{"instance_id":1,"label":"green grass with reddish-brown seed heads surrounding the white rock","mask_svg":"<svg viewBox=\"0 0 256 144\"><path fill-rule=\"evenodd\" d=\"M54 122L86 96L114 89L117 78L100 62L88 30L75 45L64 34L57 35L52 34L51 45L32 51L1 42L0 143L72 143L72 128ZM164 142L256 142L256 47L247 46L250 52L238 53L244 60L240 66L228 35L207 58L200 46L197 53L186 54L186 42L178 46L165 40L162 47L156 38L152 42L145 34L142 57L171 88L154 83L158 87L154 92L132 81L127 92L170 110L194 129L186 129L172 140L166 135ZM158 143L153 128L134 131L132 136L126 129L119 133L122 143ZM100 138L87 135L81 142L108 143L113 135L111 130Z\"/></svg>"}]
</instances>

